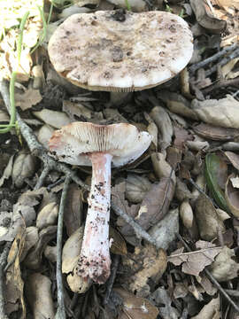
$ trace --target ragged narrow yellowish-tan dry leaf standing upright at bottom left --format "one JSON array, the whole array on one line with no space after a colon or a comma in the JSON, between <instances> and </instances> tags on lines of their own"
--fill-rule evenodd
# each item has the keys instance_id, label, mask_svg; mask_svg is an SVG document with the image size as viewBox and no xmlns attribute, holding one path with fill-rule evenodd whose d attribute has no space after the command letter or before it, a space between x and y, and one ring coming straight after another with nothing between
<instances>
[{"instance_id":1,"label":"ragged narrow yellowish-tan dry leaf standing upright at bottom left","mask_svg":"<svg viewBox=\"0 0 239 319\"><path fill-rule=\"evenodd\" d=\"M12 247L10 249L10 252L8 254L8 264L12 263L12 266L8 268L7 270L7 284L10 281L13 281L15 289L18 292L18 298L21 303L22 313L20 318L25 319L26 318L26 307L25 307L25 301L23 296L23 288L24 288L24 282L21 278L21 271L20 271L20 257L21 253L23 252L24 244L25 244L25 237L26 237L26 225L22 225L22 228L19 230L19 233L16 235Z\"/></svg>"}]
</instances>

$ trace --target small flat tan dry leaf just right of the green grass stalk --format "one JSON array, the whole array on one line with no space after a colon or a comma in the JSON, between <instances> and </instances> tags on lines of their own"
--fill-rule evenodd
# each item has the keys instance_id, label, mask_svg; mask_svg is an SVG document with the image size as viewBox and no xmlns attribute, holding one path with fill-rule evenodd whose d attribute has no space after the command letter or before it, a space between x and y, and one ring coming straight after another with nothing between
<instances>
[{"instance_id":1,"label":"small flat tan dry leaf just right of the green grass stalk","mask_svg":"<svg viewBox=\"0 0 239 319\"><path fill-rule=\"evenodd\" d=\"M27 89L23 93L16 93L16 106L20 106L22 111L26 111L31 108L33 105L42 101L42 95L39 89Z\"/></svg>"}]
</instances>

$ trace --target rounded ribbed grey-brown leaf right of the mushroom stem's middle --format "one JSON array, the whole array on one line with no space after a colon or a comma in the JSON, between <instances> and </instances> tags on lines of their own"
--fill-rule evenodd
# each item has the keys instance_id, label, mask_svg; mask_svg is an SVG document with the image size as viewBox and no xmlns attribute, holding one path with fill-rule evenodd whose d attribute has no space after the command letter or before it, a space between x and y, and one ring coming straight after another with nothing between
<instances>
[{"instance_id":1,"label":"rounded ribbed grey-brown leaf right of the mushroom stem's middle","mask_svg":"<svg viewBox=\"0 0 239 319\"><path fill-rule=\"evenodd\" d=\"M141 203L147 191L150 191L151 183L148 178L140 175L127 175L126 198L132 203Z\"/></svg>"}]
</instances>

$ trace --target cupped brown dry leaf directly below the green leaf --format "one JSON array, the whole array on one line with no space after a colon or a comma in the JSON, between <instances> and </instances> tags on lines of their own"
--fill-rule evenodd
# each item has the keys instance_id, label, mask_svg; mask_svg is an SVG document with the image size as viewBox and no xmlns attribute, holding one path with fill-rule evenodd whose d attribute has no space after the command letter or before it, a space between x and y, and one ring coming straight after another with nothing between
<instances>
[{"instance_id":1,"label":"cupped brown dry leaf directly below the green leaf","mask_svg":"<svg viewBox=\"0 0 239 319\"><path fill-rule=\"evenodd\" d=\"M204 240L212 240L218 236L219 231L225 232L225 226L220 220L212 201L203 194L197 198L195 217L200 237Z\"/></svg>"}]
</instances>

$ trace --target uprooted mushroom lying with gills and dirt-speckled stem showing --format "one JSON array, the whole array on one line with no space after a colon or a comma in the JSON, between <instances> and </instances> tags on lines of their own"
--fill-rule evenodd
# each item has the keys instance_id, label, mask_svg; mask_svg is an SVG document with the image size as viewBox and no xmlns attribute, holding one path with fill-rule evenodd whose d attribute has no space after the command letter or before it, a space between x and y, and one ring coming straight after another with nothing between
<instances>
[{"instance_id":1,"label":"uprooted mushroom lying with gills and dirt-speckled stem showing","mask_svg":"<svg viewBox=\"0 0 239 319\"><path fill-rule=\"evenodd\" d=\"M76 268L79 276L103 284L110 275L111 164L120 167L133 162L147 150L150 142L148 132L139 132L127 123L73 122L55 131L50 138L50 152L58 160L72 165L92 165L89 209Z\"/></svg>"}]
</instances>

